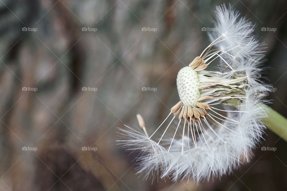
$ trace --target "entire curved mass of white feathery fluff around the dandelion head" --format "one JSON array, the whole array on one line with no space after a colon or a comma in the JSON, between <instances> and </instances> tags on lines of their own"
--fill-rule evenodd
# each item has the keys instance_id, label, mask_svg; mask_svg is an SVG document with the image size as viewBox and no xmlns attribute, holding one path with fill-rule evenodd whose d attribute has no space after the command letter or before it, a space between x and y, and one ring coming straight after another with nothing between
<instances>
[{"instance_id":1,"label":"entire curved mass of white feathery fluff around the dandelion head","mask_svg":"<svg viewBox=\"0 0 287 191\"><path fill-rule=\"evenodd\" d=\"M190 127L187 130L187 123L185 124L183 145L181 133L174 139L172 135L167 136L158 144L158 141L153 141L146 134L130 127L120 129L120 136L124 138L120 140L120 144L129 150L141 151L137 158L139 161L138 173L144 173L146 179L160 177L178 181L183 178L193 178L198 182L209 180L213 176L229 174L243 161L250 160L252 149L262 138L265 127L260 119L266 117L266 114L260 104L269 88L259 79L261 72L259 64L264 56L262 44L252 34L254 25L244 17L240 17L239 13L233 11L231 6L216 7L215 13L216 32L210 34L211 41L222 36L224 40L215 44L216 47L228 50L237 46L228 54L222 54L222 58L230 67L222 61L219 64L220 75L225 78L247 76L246 80L242 82L246 98L240 99L241 104L237 106L238 108L220 104L222 110L237 111L225 112L228 119L220 120L222 128L216 128L211 124L211 127L214 127L211 130L202 120L202 124L206 127L204 133L199 134L196 130L194 131L194 136L198 138L197 146L191 138ZM207 70L200 71L200 74L208 73ZM190 125L193 125L192 121ZM199 128L197 126L198 130ZM163 129L165 128L163 127ZM149 128L147 130L149 131ZM199 132L202 131L199 130Z\"/></svg>"}]
</instances>

